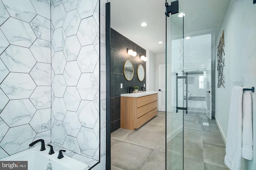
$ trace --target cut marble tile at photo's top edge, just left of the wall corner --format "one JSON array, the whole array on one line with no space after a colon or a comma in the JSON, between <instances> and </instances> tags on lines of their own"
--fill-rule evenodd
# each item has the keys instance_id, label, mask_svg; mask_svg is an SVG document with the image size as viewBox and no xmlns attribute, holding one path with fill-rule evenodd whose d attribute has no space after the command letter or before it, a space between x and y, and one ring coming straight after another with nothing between
<instances>
[{"instance_id":1,"label":"cut marble tile at photo's top edge, just left of the wall corner","mask_svg":"<svg viewBox=\"0 0 256 170\"><path fill-rule=\"evenodd\" d=\"M31 0L31 2L38 15L51 19L50 0Z\"/></svg>"}]
</instances>

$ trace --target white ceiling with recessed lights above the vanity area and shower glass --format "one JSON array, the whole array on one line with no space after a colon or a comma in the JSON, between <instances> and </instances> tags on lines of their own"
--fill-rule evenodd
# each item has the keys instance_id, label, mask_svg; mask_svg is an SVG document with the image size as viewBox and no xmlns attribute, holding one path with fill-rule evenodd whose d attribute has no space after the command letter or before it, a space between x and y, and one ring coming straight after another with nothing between
<instances>
[{"instance_id":1,"label":"white ceiling with recessed lights above the vanity area and shower glass","mask_svg":"<svg viewBox=\"0 0 256 170\"><path fill-rule=\"evenodd\" d=\"M154 54L165 53L165 0L108 1L111 4L111 27L114 30ZM208 33L217 36L229 2L230 0L179 0L182 11L186 13L184 36ZM177 17L177 14L172 17ZM140 26L142 22L148 23L148 26ZM172 30L173 34L180 34L179 26ZM158 41L164 43L158 44Z\"/></svg>"}]
</instances>

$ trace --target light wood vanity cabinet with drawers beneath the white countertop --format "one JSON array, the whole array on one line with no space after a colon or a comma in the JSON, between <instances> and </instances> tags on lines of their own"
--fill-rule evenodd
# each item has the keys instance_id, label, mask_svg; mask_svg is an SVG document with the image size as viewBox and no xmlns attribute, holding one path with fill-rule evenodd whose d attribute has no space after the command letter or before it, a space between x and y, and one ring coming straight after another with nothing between
<instances>
[{"instance_id":1,"label":"light wood vanity cabinet with drawers beneath the white countertop","mask_svg":"<svg viewBox=\"0 0 256 170\"><path fill-rule=\"evenodd\" d=\"M135 130L157 115L157 94L121 96L121 128Z\"/></svg>"}]
</instances>

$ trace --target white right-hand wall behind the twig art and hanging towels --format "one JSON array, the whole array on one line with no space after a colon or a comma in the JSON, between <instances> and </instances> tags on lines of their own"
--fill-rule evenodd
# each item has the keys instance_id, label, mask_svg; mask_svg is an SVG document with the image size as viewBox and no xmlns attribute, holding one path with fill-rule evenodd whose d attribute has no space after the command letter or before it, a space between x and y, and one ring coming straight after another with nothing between
<instances>
[{"instance_id":1,"label":"white right-hand wall behind the twig art and hanging towels","mask_svg":"<svg viewBox=\"0 0 256 170\"><path fill-rule=\"evenodd\" d=\"M217 88L216 72L216 120L223 131L228 131L230 96L233 86L256 86L256 4L252 0L231 0L218 37L224 30L225 38L225 88ZM218 42L216 42L218 44ZM216 64L217 66L217 64ZM254 146L256 146L256 93L252 94ZM256 150L254 149L254 156ZM245 160L242 169L256 169L256 159Z\"/></svg>"}]
</instances>

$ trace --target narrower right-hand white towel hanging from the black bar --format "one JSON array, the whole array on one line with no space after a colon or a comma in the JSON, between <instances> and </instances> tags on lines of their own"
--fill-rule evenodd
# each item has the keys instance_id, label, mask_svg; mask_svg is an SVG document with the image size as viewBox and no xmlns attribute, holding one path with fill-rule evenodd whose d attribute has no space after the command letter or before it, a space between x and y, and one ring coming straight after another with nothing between
<instances>
[{"instance_id":1,"label":"narrower right-hand white towel hanging from the black bar","mask_svg":"<svg viewBox=\"0 0 256 170\"><path fill-rule=\"evenodd\" d=\"M253 158L252 150L252 98L250 91L244 91L242 107L242 157Z\"/></svg>"}]
</instances>

